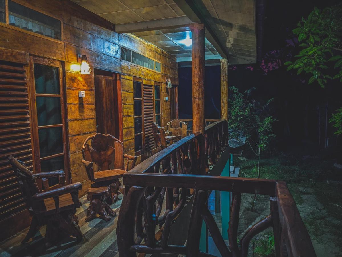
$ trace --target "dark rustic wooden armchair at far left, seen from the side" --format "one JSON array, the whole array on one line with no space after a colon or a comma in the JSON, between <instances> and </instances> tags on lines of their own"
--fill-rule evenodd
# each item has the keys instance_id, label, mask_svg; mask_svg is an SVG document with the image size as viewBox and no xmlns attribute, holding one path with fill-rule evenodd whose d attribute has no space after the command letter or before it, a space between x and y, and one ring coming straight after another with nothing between
<instances>
[{"instance_id":1,"label":"dark rustic wooden armchair at far left, seen from the side","mask_svg":"<svg viewBox=\"0 0 342 257\"><path fill-rule=\"evenodd\" d=\"M78 191L82 189L82 184L77 182L65 186L63 170L34 174L26 169L24 162L18 161L13 156L9 156L8 160L12 164L26 206L33 216L31 226L22 243L26 243L31 237L34 237L39 227L44 224L47 225L46 248L62 240L65 236L71 235L81 239L82 233L75 213L76 208L81 207ZM61 187L49 191L48 178L53 177L58 177ZM43 181L44 192L39 189L36 179Z\"/></svg>"}]
</instances>

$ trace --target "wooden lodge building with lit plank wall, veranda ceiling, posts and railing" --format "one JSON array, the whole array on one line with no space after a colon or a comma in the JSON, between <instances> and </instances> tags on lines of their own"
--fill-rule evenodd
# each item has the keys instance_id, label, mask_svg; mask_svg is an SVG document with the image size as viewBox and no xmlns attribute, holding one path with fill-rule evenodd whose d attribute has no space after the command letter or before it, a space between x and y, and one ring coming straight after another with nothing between
<instances>
[{"instance_id":1,"label":"wooden lodge building with lit plank wall, veranda ceiling, posts and railing","mask_svg":"<svg viewBox=\"0 0 342 257\"><path fill-rule=\"evenodd\" d=\"M284 245L291 256L296 256L293 253L301 252L297 243L307 245L307 252L301 256L314 256L310 255L311 241L291 195L285 199L286 194L279 194L288 192L285 184L248 180L246 187L239 179L223 181L223 177L208 176L205 172L209 167L208 156L211 164L217 163L218 175L228 161L228 64L257 61L262 45L263 7L263 0L0 0L0 241L29 227L31 220L33 223L41 213L50 217L49 210L57 214L64 211L62 193L54 191L60 185L67 185L65 190L70 191L67 192L73 198L73 208L79 208L77 198L86 195L94 181L96 184L96 172L89 173L93 172L93 162L90 165L89 160L82 160L86 159L84 149L87 140L100 133L114 136L116 146L121 144L122 163L122 155L133 161L129 172L128 164L122 171L125 195L116 232L120 238L120 256L132 256L132 252L133 256L135 252L198 256L197 235L193 239L188 237L183 248L168 248L168 236L162 239L162 246L155 248L155 233L149 226L156 221L150 218L145 220L145 225L140 224L145 226L144 230L136 230L140 242L147 243L132 243L135 217L143 213L139 211L141 207L136 207L142 195L166 194L166 207L162 200L157 205L167 209L165 217L159 217L158 207L154 211L161 220L157 217L157 222L165 222L163 233L169 233L172 219L184 207L185 192L193 189L196 191L193 208L202 206L203 192L207 192L203 190L237 191L233 194L234 208L239 205L238 194L270 195L274 209L264 223L270 226L273 222L277 230L277 256ZM185 135L177 136L169 131L172 132L170 126L174 125L170 121L179 118L178 106L182 104L178 101L178 87L182 86L179 65L192 66L193 126L188 133L185 129ZM205 65L221 65L221 120L207 127ZM179 124L186 126L182 122L176 125ZM157 126L157 134L153 126ZM171 146L159 145L164 130L165 142L172 144L174 140ZM226 154L220 158L219 152L225 149ZM18 168L24 167L23 164L33 171L33 176L25 173L25 168ZM167 174L154 173L159 173L161 166ZM64 173L58 171L57 177L47 175L56 170ZM47 177L40 177L39 173ZM166 177L168 173L173 174ZM176 176L180 173L183 180ZM29 176L30 180L20 176ZM37 184L32 187L35 189L27 187L36 179ZM177 188L181 185L183 190ZM131 191L134 188L137 191ZM139 188L147 189L145 192ZM25 197L32 190L38 193L33 198ZM93 195L105 192L95 191ZM52 192L57 193L52 195ZM178 199L173 204L172 192ZM46 200L48 194L53 198L52 207ZM30 207L28 201L38 198L45 207L35 211L36 205ZM156 202L157 198L153 199ZM148 210L156 207L151 208ZM289 214L291 208L296 211ZM35 213L33 219L32 213ZM168 217L167 213L170 213ZM236 219L236 213L238 210L232 212L231 221ZM187 224L193 235L200 234L198 215L192 211ZM210 224L212 220L206 220L206 214L201 215ZM286 222L297 224L298 230L304 230L296 234L298 230L293 227L281 229L279 224L283 221L279 221L278 215L285 217ZM49 224L49 218L44 218L44 222ZM228 234L236 237L234 224L229 226ZM210 232L215 235L217 231ZM52 232L49 233L51 237ZM298 238L301 240L296 241ZM238 247L229 243L228 250L222 240L214 240L221 254L234 252ZM248 243L247 240L247 246ZM233 256L245 256L240 254Z\"/></svg>"}]
</instances>

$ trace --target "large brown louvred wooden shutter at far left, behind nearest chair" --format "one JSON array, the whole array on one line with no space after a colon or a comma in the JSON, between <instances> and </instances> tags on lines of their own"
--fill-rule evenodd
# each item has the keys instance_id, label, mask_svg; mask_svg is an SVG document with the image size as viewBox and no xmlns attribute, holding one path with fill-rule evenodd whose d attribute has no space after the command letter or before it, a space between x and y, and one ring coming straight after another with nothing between
<instances>
[{"instance_id":1,"label":"large brown louvred wooden shutter at far left, behind nearest chair","mask_svg":"<svg viewBox=\"0 0 342 257\"><path fill-rule=\"evenodd\" d=\"M26 208L8 156L32 170L26 69L0 61L0 220Z\"/></svg>"}]
</instances>

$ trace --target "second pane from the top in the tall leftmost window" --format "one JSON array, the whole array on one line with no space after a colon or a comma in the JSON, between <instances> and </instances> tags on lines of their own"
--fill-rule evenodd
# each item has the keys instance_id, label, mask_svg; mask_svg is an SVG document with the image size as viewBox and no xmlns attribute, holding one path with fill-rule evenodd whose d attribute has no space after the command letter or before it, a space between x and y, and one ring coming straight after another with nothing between
<instances>
[{"instance_id":1,"label":"second pane from the top in the tall leftmost window","mask_svg":"<svg viewBox=\"0 0 342 257\"><path fill-rule=\"evenodd\" d=\"M61 124L61 98L37 97L38 126Z\"/></svg>"}]
</instances>

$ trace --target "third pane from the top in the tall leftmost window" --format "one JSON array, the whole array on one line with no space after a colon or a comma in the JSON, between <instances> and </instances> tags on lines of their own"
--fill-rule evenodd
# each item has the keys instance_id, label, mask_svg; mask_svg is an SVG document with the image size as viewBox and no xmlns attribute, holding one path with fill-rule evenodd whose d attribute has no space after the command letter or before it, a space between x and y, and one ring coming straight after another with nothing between
<instances>
[{"instance_id":1,"label":"third pane from the top in the tall leftmost window","mask_svg":"<svg viewBox=\"0 0 342 257\"><path fill-rule=\"evenodd\" d=\"M40 158L63 152L62 127L39 129Z\"/></svg>"}]
</instances>

